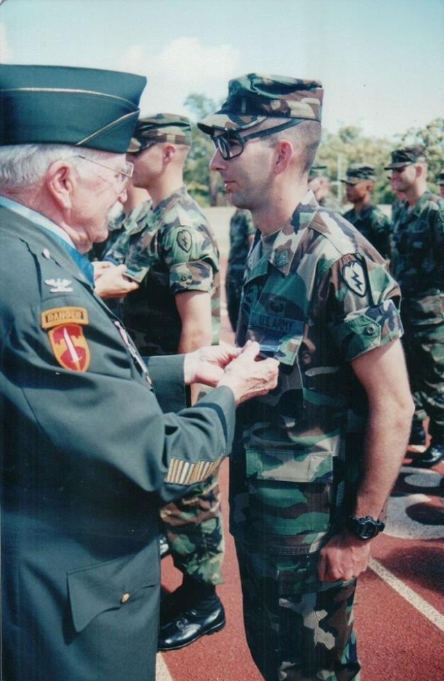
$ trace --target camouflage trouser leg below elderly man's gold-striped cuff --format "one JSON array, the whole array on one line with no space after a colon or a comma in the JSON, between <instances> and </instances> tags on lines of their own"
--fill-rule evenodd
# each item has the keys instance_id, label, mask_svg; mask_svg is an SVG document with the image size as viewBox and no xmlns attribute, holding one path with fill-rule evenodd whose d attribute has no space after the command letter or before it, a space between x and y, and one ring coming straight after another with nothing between
<instances>
[{"instance_id":1,"label":"camouflage trouser leg below elderly man's gold-striped cuff","mask_svg":"<svg viewBox=\"0 0 444 681\"><path fill-rule=\"evenodd\" d=\"M200 582L222 584L225 544L218 476L163 506L160 519L176 568Z\"/></svg>"}]
</instances>

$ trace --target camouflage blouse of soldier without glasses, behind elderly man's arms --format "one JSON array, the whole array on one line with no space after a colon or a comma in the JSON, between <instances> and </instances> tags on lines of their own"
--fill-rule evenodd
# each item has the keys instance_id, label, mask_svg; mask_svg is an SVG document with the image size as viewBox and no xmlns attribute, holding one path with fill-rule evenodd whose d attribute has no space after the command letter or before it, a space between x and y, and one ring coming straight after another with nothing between
<instances>
[{"instance_id":1,"label":"camouflage blouse of soldier without glasses, behind elderly man's arms","mask_svg":"<svg viewBox=\"0 0 444 681\"><path fill-rule=\"evenodd\" d=\"M182 324L175 296L212 296L213 342L219 339L219 252L207 219L185 187L148 212L130 235L125 264L139 289L126 296L123 319L142 355L177 353Z\"/></svg>"}]
</instances>

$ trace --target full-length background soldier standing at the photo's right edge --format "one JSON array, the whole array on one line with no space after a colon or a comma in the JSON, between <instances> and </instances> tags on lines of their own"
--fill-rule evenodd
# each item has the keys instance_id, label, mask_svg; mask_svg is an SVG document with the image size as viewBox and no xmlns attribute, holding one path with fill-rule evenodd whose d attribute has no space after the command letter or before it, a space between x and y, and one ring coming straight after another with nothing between
<instances>
[{"instance_id":1,"label":"full-length background soldier standing at the photo's right edge","mask_svg":"<svg viewBox=\"0 0 444 681\"><path fill-rule=\"evenodd\" d=\"M444 201L427 189L423 146L396 149L386 169L393 190L406 197L393 226L391 267L402 291L404 346L416 403L411 444L418 444L426 417L432 437L413 464L429 467L444 457Z\"/></svg>"}]
</instances>

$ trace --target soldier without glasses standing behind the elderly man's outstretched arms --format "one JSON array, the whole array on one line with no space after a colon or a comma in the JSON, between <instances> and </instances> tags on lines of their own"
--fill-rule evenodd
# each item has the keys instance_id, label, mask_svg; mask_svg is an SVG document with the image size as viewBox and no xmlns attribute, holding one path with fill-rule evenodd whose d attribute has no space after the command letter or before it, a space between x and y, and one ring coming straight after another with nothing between
<instances>
[{"instance_id":1,"label":"soldier without glasses standing behind the elderly man's outstretched arms","mask_svg":"<svg viewBox=\"0 0 444 681\"><path fill-rule=\"evenodd\" d=\"M159 114L140 119L129 153L133 183L153 201L126 246L126 276L138 289L123 303L123 319L142 355L186 353L219 341L219 252L207 219L183 184L191 144L189 119ZM117 254L114 248L114 258ZM191 402L196 402L191 389ZM225 625L216 585L224 555L218 476L192 496L162 508L162 530L179 589L162 603L160 650L191 644Z\"/></svg>"}]
</instances>

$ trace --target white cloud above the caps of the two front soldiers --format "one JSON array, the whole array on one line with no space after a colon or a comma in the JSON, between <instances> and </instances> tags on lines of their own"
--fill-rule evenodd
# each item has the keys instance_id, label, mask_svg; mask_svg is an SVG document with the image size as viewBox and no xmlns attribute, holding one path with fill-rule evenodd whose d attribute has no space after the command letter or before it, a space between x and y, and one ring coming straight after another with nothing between
<instances>
[{"instance_id":1,"label":"white cloud above the caps of the two front soldiers","mask_svg":"<svg viewBox=\"0 0 444 681\"><path fill-rule=\"evenodd\" d=\"M119 60L119 68L148 79L142 96L142 115L171 112L189 115L183 103L191 92L219 101L228 80L239 76L239 51L229 44L205 47L196 38L180 37L159 54L148 56L142 45L133 45Z\"/></svg>"}]
</instances>

